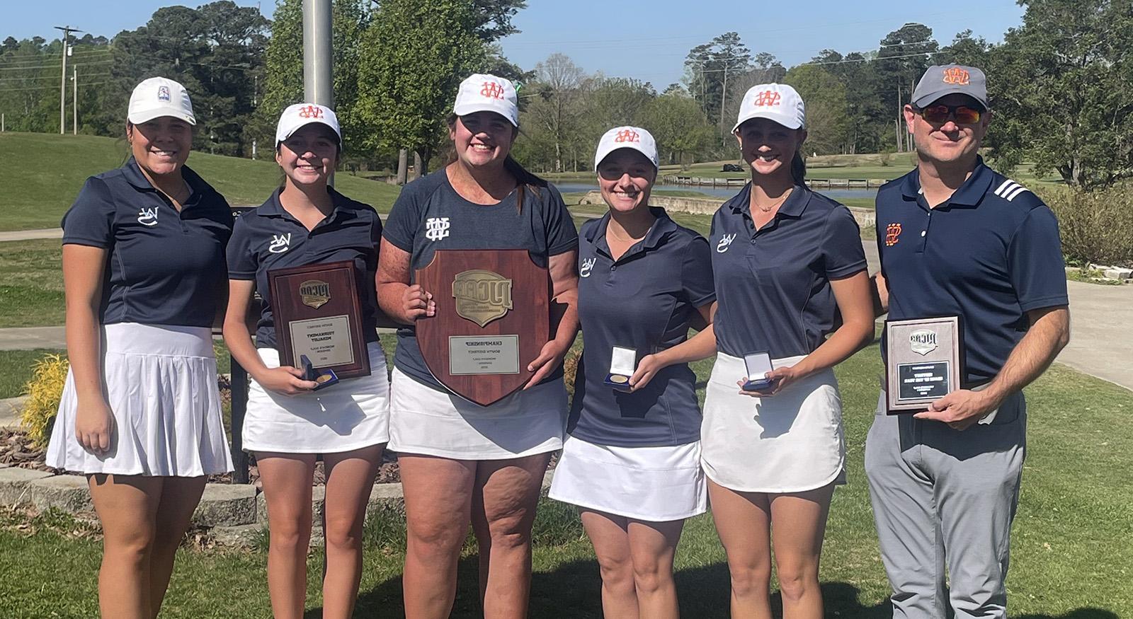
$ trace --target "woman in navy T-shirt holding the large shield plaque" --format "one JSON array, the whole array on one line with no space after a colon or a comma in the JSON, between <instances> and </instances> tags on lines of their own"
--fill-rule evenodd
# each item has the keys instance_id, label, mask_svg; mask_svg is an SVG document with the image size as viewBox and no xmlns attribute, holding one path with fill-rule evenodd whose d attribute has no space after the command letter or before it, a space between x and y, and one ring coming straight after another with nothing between
<instances>
[{"instance_id":1,"label":"woman in navy T-shirt holding the large shield plaque","mask_svg":"<svg viewBox=\"0 0 1133 619\"><path fill-rule=\"evenodd\" d=\"M469 522L479 542L486 617L522 617L531 571L531 524L551 454L562 447L566 392L562 359L578 332L578 234L559 191L509 155L519 131L511 81L465 79L449 118L455 158L402 191L382 239L377 294L398 332L390 401L390 449L406 493L406 616L448 617ZM433 377L415 323L434 316L415 273L437 249L526 249L550 270L557 328L527 385L480 406ZM518 309L518 308L517 308Z\"/></svg>"}]
</instances>

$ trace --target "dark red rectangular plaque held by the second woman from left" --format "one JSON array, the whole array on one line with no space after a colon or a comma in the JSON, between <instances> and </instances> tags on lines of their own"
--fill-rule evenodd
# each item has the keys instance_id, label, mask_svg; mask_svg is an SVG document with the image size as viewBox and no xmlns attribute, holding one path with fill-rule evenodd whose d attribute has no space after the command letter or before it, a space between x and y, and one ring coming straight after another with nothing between
<instances>
[{"instance_id":1,"label":"dark red rectangular plaque held by the second woman from left","mask_svg":"<svg viewBox=\"0 0 1133 619\"><path fill-rule=\"evenodd\" d=\"M369 376L353 260L276 268L267 272L280 363L316 369L339 378Z\"/></svg>"}]
</instances>

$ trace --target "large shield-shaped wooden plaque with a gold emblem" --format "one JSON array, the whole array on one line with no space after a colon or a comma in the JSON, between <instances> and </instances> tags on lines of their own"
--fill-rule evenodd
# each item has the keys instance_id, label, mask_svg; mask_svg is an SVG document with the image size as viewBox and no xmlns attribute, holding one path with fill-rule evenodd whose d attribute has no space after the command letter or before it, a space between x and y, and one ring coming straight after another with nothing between
<instances>
[{"instance_id":1,"label":"large shield-shaped wooden plaque with a gold emblem","mask_svg":"<svg viewBox=\"0 0 1133 619\"><path fill-rule=\"evenodd\" d=\"M551 328L551 280L526 249L438 249L416 283L436 303L417 344L442 385L487 406L527 384Z\"/></svg>"}]
</instances>

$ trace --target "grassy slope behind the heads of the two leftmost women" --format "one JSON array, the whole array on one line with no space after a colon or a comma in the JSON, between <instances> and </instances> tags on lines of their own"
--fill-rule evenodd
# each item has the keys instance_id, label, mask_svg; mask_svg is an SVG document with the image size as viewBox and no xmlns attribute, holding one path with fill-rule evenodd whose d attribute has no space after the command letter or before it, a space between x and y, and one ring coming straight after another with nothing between
<instances>
[{"instance_id":1,"label":"grassy slope behind the heads of the two leftmost women","mask_svg":"<svg viewBox=\"0 0 1133 619\"><path fill-rule=\"evenodd\" d=\"M0 158L19 162L0 166L0 230L57 227L87 177L120 166L127 157L123 139L51 134L0 134ZM188 165L232 205L258 205L279 187L281 172L272 160L252 161L195 152ZM335 187L357 200L389 212L400 189L340 172Z\"/></svg>"}]
</instances>

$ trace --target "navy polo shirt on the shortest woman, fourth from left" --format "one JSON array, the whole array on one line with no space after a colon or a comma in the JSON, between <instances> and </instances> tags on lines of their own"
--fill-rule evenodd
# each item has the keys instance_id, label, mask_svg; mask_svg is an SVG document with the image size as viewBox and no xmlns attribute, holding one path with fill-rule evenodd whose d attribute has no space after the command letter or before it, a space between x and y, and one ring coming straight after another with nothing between
<instances>
[{"instance_id":1,"label":"navy polo shirt on the shortest woman, fourth from left","mask_svg":"<svg viewBox=\"0 0 1133 619\"><path fill-rule=\"evenodd\" d=\"M708 241L663 208L645 239L617 260L606 242L607 213L582 224L578 315L582 359L574 377L569 431L615 447L684 445L700 439L696 375L688 363L662 369L645 388L623 393L603 381L614 346L647 354L684 342L697 308L713 302Z\"/></svg>"}]
</instances>

